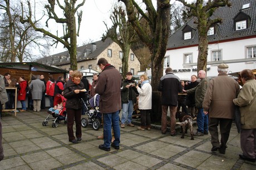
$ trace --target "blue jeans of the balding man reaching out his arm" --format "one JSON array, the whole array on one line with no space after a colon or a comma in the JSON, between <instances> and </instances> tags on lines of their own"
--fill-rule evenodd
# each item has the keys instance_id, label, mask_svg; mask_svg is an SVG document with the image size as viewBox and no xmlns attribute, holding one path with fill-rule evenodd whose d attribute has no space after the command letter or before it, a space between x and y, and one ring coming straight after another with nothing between
<instances>
[{"instance_id":1,"label":"blue jeans of the balding man reaching out his arm","mask_svg":"<svg viewBox=\"0 0 256 170\"><path fill-rule=\"evenodd\" d=\"M198 132L201 132L201 133L208 132L208 114L204 115L203 108L198 108L196 123L198 123Z\"/></svg>"}]
</instances>

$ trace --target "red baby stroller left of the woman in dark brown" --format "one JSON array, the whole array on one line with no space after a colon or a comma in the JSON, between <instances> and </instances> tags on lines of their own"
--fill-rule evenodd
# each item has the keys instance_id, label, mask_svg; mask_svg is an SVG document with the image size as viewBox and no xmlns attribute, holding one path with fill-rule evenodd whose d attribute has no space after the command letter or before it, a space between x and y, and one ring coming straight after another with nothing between
<instances>
[{"instance_id":1,"label":"red baby stroller left of the woman in dark brown","mask_svg":"<svg viewBox=\"0 0 256 170\"><path fill-rule=\"evenodd\" d=\"M62 105L61 105L62 104ZM63 97L61 94L56 94L53 100L53 105L54 106L60 106L56 109L50 108L48 112L48 116L46 117L45 121L43 121L42 125L43 126L48 126L48 121L47 120L53 120L52 127L57 127L57 123L60 123L60 121L64 120L64 123L67 123L66 120L66 99ZM50 117L52 115L52 117Z\"/></svg>"}]
</instances>

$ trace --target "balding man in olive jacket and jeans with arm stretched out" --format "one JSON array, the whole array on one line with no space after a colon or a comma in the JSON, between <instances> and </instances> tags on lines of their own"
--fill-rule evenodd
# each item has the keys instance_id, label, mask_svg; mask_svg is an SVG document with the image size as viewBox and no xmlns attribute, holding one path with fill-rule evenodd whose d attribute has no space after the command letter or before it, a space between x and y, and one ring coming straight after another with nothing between
<instances>
[{"instance_id":1,"label":"balding man in olive jacket and jeans with arm stretched out","mask_svg":"<svg viewBox=\"0 0 256 170\"><path fill-rule=\"evenodd\" d=\"M208 115L204 114L203 101L206 89L210 80L205 78L206 73L204 70L198 72L198 78L201 79L200 83L193 89L183 90L188 94L195 94L195 107L198 108L198 116L196 117L196 123L198 124L198 130L194 136L208 135Z\"/></svg>"}]
</instances>

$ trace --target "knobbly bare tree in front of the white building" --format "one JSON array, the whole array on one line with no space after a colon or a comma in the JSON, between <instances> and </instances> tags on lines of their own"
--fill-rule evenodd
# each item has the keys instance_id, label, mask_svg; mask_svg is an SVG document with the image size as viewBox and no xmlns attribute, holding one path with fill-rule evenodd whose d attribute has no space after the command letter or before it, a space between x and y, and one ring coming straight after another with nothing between
<instances>
[{"instance_id":1,"label":"knobbly bare tree in front of the white building","mask_svg":"<svg viewBox=\"0 0 256 170\"><path fill-rule=\"evenodd\" d=\"M198 36L199 36L199 44L198 44L198 66L197 69L205 70L207 65L207 56L208 56L208 39L207 32L209 28L222 21L221 18L211 19L214 11L216 11L219 7L231 6L229 0L208 0L206 4L204 4L203 0L196 0L195 3L186 3L184 0L176 0L184 4L184 6L190 8L190 16L196 17L197 20L194 21L198 25Z\"/></svg>"}]
</instances>

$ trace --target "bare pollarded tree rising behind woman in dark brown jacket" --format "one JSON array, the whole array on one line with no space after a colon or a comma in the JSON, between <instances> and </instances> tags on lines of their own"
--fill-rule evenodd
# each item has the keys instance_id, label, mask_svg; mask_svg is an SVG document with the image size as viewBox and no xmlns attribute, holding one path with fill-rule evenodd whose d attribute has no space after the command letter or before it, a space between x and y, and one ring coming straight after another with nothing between
<instances>
[{"instance_id":1,"label":"bare pollarded tree rising behind woman in dark brown jacket","mask_svg":"<svg viewBox=\"0 0 256 170\"><path fill-rule=\"evenodd\" d=\"M63 11L63 17L59 17L56 12L56 2L57 6L60 7ZM46 27L48 27L48 21L50 19L55 20L55 22L58 24L63 25L63 36L58 37L58 35L55 35L53 33L50 33L49 31L38 28L37 23L40 21L35 19L35 16L32 16L31 11L31 4L29 1L28 3L28 9L29 9L29 15L24 18L24 14L22 13L21 16L21 22L22 23L29 23L31 26L37 31L43 33L43 35L47 35L48 37L51 37L55 39L55 42L53 44L56 44L58 42L62 43L65 48L67 48L68 53L70 54L70 68L72 70L77 70L77 51L76 51L76 43L77 43L77 36L79 36L79 30L80 30L80 24L82 21L82 11L77 12L78 8L82 7L83 4L85 4L85 0L83 0L80 4L76 6L77 1L64 1L64 5L60 3L59 0L48 0L48 4L45 5L48 19L46 20ZM23 6L23 5L22 5ZM78 28L76 28L76 17L75 14L77 13L77 23ZM32 18L33 17L33 18ZM33 19L35 19L33 21ZM53 45L52 44L52 45Z\"/></svg>"}]
</instances>

